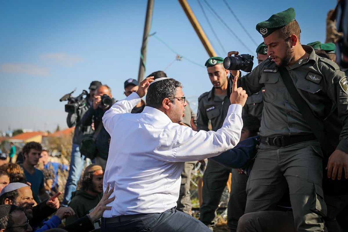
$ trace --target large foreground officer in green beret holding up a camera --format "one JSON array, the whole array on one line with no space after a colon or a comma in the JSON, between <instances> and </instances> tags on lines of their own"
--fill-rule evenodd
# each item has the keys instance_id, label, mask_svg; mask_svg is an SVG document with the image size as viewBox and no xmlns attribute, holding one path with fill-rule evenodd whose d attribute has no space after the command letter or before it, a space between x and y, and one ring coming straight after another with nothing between
<instances>
[{"instance_id":1,"label":"large foreground officer in green beret holding up a camera","mask_svg":"<svg viewBox=\"0 0 348 232\"><path fill-rule=\"evenodd\" d=\"M327 231L322 189L321 145L299 112L278 69L285 68L302 98L320 119L337 105L343 129L331 154L328 177L348 178L348 78L329 59L300 44L295 10L289 8L256 25L270 58L238 81L248 95L265 88L260 146L247 183L245 213L276 210L288 185L297 231ZM232 51L228 55L237 55ZM237 76L239 71L231 71Z\"/></svg>"}]
</instances>

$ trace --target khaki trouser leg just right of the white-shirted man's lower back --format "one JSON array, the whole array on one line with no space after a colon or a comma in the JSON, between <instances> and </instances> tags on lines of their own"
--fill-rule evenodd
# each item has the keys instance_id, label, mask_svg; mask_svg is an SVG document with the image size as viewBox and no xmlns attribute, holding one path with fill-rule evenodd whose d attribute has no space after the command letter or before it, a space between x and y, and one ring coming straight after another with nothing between
<instances>
[{"instance_id":1,"label":"khaki trouser leg just right of the white-shirted man's lower back","mask_svg":"<svg viewBox=\"0 0 348 232\"><path fill-rule=\"evenodd\" d=\"M179 210L190 216L192 216L192 203L190 193L191 172L196 163L197 161L185 162L184 170L181 173L179 199L176 202L176 210Z\"/></svg>"}]
</instances>

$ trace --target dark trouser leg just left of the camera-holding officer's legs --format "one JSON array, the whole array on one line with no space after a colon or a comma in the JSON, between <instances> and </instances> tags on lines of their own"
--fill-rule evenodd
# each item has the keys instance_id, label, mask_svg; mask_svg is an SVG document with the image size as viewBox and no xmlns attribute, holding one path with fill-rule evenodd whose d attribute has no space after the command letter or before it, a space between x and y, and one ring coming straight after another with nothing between
<instances>
[{"instance_id":1,"label":"dark trouser leg just left of the camera-holding officer's legs","mask_svg":"<svg viewBox=\"0 0 348 232\"><path fill-rule=\"evenodd\" d=\"M239 217L243 216L246 204L246 182L248 176L232 169L230 199L227 207L227 225L230 232L237 231Z\"/></svg>"}]
</instances>

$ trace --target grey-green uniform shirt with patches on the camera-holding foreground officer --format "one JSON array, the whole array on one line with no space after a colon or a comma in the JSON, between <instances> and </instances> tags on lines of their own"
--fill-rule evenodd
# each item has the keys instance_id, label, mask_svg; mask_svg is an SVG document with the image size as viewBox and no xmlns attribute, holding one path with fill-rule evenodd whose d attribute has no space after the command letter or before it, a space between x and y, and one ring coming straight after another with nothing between
<instances>
[{"instance_id":1,"label":"grey-green uniform shirt with patches on the camera-holding foreground officer","mask_svg":"<svg viewBox=\"0 0 348 232\"><path fill-rule=\"evenodd\" d=\"M348 80L337 64L317 56L314 49L302 45L310 53L292 66L286 66L299 94L308 103L314 114L324 120L332 107L337 106L343 127L337 149L348 152ZM312 134L299 109L288 93L276 64L266 59L243 78L238 86L248 95L257 93L262 87L263 111L260 135L266 137Z\"/></svg>"}]
</instances>

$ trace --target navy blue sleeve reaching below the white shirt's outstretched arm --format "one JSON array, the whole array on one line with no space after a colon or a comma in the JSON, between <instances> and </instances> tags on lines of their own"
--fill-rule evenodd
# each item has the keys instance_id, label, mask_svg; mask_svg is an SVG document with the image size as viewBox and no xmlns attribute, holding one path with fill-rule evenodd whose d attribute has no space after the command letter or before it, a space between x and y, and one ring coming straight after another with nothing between
<instances>
[{"instance_id":1,"label":"navy blue sleeve reaching below the white shirt's outstretched arm","mask_svg":"<svg viewBox=\"0 0 348 232\"><path fill-rule=\"evenodd\" d=\"M240 141L234 148L209 159L228 168L245 168L256 155L256 144L260 136L254 136Z\"/></svg>"}]
</instances>

